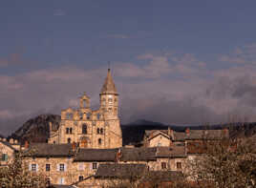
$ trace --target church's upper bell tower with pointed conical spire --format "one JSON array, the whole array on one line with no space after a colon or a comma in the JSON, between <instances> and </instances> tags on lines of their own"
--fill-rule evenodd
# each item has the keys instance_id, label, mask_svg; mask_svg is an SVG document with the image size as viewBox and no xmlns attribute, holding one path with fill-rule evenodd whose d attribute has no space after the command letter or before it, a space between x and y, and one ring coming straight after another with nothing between
<instances>
[{"instance_id":1,"label":"church's upper bell tower with pointed conical spire","mask_svg":"<svg viewBox=\"0 0 256 188\"><path fill-rule=\"evenodd\" d=\"M105 119L118 119L118 94L110 69L101 88L100 110Z\"/></svg>"}]
</instances>

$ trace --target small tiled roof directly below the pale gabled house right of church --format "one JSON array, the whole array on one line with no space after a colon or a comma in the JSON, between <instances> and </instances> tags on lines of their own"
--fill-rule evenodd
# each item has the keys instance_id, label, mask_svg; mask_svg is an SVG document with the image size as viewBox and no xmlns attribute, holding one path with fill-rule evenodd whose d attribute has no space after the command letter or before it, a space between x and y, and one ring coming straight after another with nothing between
<instances>
[{"instance_id":1,"label":"small tiled roof directly below the pale gabled house right of church","mask_svg":"<svg viewBox=\"0 0 256 188\"><path fill-rule=\"evenodd\" d=\"M157 157L186 157L185 146L158 147Z\"/></svg>"}]
</instances>

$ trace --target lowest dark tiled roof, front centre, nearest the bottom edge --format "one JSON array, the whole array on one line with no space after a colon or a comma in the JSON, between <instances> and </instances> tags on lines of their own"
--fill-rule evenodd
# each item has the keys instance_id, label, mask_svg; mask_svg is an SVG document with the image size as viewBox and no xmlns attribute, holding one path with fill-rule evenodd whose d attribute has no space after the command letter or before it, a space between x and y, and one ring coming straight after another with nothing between
<instances>
[{"instance_id":1,"label":"lowest dark tiled roof, front centre, nearest the bottom edge","mask_svg":"<svg viewBox=\"0 0 256 188\"><path fill-rule=\"evenodd\" d=\"M145 164L100 164L96 178L139 178L147 170Z\"/></svg>"}]
</instances>

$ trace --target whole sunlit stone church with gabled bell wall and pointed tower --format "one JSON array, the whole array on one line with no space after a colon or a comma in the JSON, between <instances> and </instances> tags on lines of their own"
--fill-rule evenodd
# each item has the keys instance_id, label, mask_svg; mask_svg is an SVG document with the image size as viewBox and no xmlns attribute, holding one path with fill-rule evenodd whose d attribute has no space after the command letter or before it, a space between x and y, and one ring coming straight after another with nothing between
<instances>
[{"instance_id":1,"label":"whole sunlit stone church with gabled bell wall and pointed tower","mask_svg":"<svg viewBox=\"0 0 256 188\"><path fill-rule=\"evenodd\" d=\"M118 118L118 94L108 70L99 94L100 107L90 108L90 97L83 94L79 98L79 108L61 111L58 130L50 124L49 143L78 143L80 148L107 149L122 146L122 135Z\"/></svg>"}]
</instances>

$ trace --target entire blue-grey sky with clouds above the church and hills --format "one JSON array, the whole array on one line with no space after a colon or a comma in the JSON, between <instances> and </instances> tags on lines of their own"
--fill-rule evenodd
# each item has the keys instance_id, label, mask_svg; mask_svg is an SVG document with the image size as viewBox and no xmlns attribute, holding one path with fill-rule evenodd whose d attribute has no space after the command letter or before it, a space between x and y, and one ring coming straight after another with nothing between
<instances>
[{"instance_id":1,"label":"entire blue-grey sky with clouds above the church and hills","mask_svg":"<svg viewBox=\"0 0 256 188\"><path fill-rule=\"evenodd\" d=\"M256 121L256 1L0 3L0 134L93 108L108 62L121 123Z\"/></svg>"}]
</instances>

